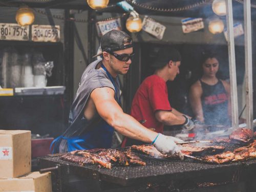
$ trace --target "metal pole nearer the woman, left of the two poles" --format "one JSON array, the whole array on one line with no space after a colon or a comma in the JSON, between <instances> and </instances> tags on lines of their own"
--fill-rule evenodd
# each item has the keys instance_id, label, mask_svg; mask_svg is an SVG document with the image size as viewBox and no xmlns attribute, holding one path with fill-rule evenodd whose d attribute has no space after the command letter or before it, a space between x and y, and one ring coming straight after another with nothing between
<instances>
[{"instance_id":1,"label":"metal pole nearer the woman, left of the two poles","mask_svg":"<svg viewBox=\"0 0 256 192\"><path fill-rule=\"evenodd\" d=\"M236 59L234 57L234 32L233 32L233 11L232 0L226 0L226 20L227 20L227 43L228 43L228 59L230 74L230 96L232 109L232 127L238 128L238 91L237 91L237 74Z\"/></svg>"}]
</instances>

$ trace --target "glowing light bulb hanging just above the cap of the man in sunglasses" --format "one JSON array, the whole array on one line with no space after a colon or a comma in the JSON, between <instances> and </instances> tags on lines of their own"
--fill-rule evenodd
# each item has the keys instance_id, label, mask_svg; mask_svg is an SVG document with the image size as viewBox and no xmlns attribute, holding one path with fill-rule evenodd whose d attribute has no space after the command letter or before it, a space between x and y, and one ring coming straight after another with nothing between
<instances>
[{"instance_id":1,"label":"glowing light bulb hanging just above the cap of the man in sunglasses","mask_svg":"<svg viewBox=\"0 0 256 192\"><path fill-rule=\"evenodd\" d=\"M126 20L126 29L131 33L139 32L142 29L142 20L136 11L132 11Z\"/></svg>"}]
</instances>

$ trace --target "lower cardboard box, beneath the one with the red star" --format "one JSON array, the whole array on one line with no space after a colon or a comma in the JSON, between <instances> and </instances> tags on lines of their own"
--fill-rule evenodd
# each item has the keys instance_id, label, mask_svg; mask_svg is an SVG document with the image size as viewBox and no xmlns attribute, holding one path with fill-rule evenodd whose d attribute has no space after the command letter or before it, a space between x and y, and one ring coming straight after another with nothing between
<instances>
[{"instance_id":1,"label":"lower cardboard box, beneath the one with the red star","mask_svg":"<svg viewBox=\"0 0 256 192\"><path fill-rule=\"evenodd\" d=\"M51 173L32 172L19 178L0 179L0 191L51 192Z\"/></svg>"}]
</instances>

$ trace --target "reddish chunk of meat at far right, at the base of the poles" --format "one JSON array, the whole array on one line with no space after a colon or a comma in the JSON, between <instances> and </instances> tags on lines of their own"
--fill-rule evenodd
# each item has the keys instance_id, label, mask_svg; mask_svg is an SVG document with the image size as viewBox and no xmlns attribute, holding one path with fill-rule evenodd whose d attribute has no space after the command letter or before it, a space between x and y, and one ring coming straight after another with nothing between
<instances>
[{"instance_id":1,"label":"reddish chunk of meat at far right, at the base of the poles","mask_svg":"<svg viewBox=\"0 0 256 192\"><path fill-rule=\"evenodd\" d=\"M239 128L229 135L229 139L243 143L250 142L252 138L253 132L246 128Z\"/></svg>"}]
</instances>

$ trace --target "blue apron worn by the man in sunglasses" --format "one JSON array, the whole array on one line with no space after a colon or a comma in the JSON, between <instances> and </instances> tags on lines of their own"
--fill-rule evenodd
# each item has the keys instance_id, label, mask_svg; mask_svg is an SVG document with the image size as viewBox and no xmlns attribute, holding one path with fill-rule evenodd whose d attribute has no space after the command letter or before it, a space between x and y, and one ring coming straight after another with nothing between
<instances>
[{"instance_id":1,"label":"blue apron worn by the man in sunglasses","mask_svg":"<svg viewBox=\"0 0 256 192\"><path fill-rule=\"evenodd\" d=\"M118 93L118 89L116 88L115 81L113 80L111 74L106 70L105 66L102 64L101 67L108 75L109 79L113 83L115 88L115 99L120 103L120 96ZM83 113L82 113L83 114ZM87 119L85 119L82 115L80 123L75 126L82 127L87 123ZM73 119L71 119L73 120ZM68 129L72 129L73 124L70 125ZM101 122L94 127L91 131L88 131L86 134L75 136L75 137L65 137L63 135L57 137L53 140L50 146L50 151L52 153L58 153L59 145L62 139L67 140L68 152L72 152L75 150L90 150L92 148L110 148L112 143L112 137L114 133L114 128L106 123L103 119ZM53 147L54 144L54 147ZM53 150L52 150L53 147Z\"/></svg>"}]
</instances>

